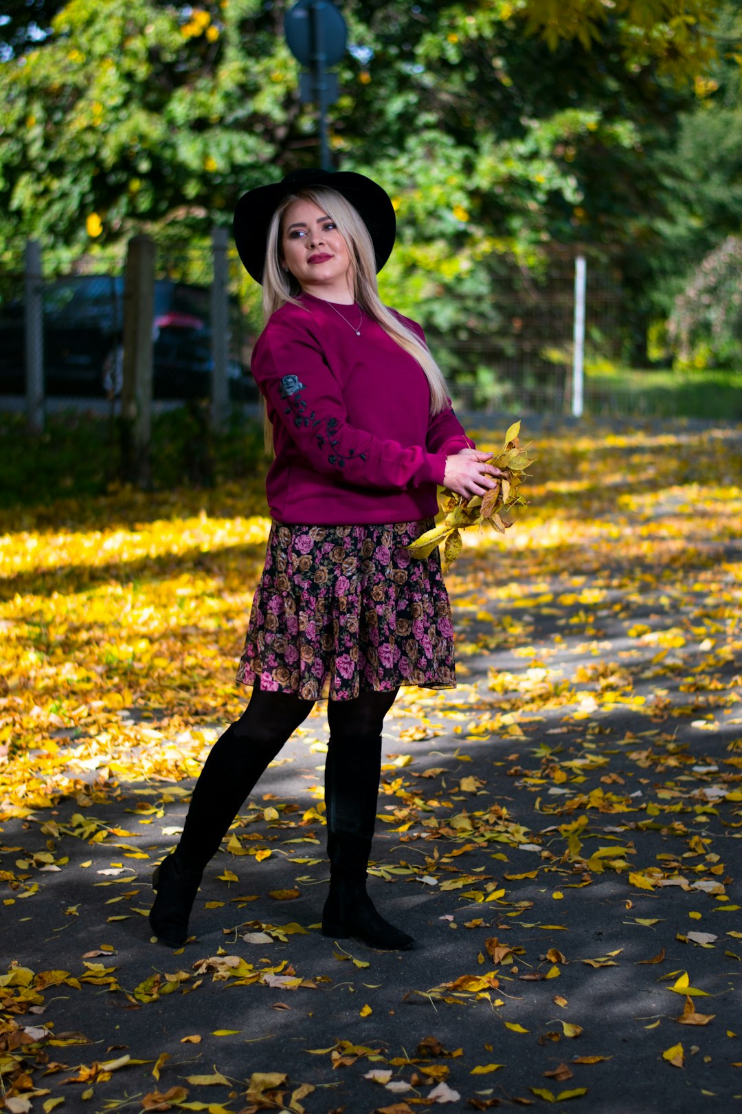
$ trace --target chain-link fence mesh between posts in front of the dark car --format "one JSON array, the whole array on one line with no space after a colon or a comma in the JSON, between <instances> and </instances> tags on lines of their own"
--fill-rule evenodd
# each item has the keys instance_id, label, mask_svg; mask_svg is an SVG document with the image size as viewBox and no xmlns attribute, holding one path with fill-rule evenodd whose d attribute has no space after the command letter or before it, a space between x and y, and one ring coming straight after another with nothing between
<instances>
[{"instance_id":1,"label":"chain-link fence mesh between posts in front of the dark car","mask_svg":"<svg viewBox=\"0 0 742 1114\"><path fill-rule=\"evenodd\" d=\"M214 368L214 258L209 244L159 246L155 265L152 394L156 402L207 400ZM82 260L73 273L0 272L0 407L20 409L32 350L41 360L47 412L73 404L116 409L123 374L126 261ZM236 253L227 253L226 374L233 402L257 402L249 372L255 329L239 294ZM39 312L30 319L31 303ZM29 324L40 336L29 339ZM29 340L36 342L29 343ZM40 341L40 344L39 344ZM31 354L30 354L31 353Z\"/></svg>"}]
</instances>

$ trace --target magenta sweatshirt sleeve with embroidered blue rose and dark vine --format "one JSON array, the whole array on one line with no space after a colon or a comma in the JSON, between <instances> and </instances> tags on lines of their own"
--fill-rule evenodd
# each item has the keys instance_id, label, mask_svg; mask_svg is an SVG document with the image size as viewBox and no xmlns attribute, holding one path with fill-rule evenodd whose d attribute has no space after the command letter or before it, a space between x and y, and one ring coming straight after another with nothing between
<instances>
[{"instance_id":1,"label":"magenta sweatshirt sleeve with embroidered blue rose and dark vine","mask_svg":"<svg viewBox=\"0 0 742 1114\"><path fill-rule=\"evenodd\" d=\"M301 456L320 475L359 487L443 483L444 452L382 441L347 421L339 384L308 329L273 321L253 355L253 374Z\"/></svg>"}]
</instances>

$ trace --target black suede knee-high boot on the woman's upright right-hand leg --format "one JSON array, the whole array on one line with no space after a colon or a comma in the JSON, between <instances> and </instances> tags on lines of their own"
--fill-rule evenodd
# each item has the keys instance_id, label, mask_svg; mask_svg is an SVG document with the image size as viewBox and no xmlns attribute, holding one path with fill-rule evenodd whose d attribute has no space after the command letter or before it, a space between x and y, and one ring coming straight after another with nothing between
<instances>
[{"instance_id":1,"label":"black suede knee-high boot on the woman's upright right-hand leg","mask_svg":"<svg viewBox=\"0 0 742 1114\"><path fill-rule=\"evenodd\" d=\"M366 892L380 761L380 735L353 743L330 739L325 764L330 882L321 932L335 939L352 936L369 948L402 951L415 942L412 936L385 920Z\"/></svg>"}]
</instances>

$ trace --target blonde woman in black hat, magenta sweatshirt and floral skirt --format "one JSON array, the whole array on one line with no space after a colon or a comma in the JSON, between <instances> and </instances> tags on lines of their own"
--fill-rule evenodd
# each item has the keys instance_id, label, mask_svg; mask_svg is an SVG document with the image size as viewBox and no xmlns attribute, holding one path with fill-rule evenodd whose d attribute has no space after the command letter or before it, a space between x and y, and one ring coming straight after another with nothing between
<instances>
[{"instance_id":1,"label":"blonde woman in black hat, magenta sweatshirt and floral skirt","mask_svg":"<svg viewBox=\"0 0 742 1114\"><path fill-rule=\"evenodd\" d=\"M323 934L414 942L366 892L382 726L400 684L456 681L439 555L405 547L431 527L436 485L471 497L499 473L455 418L419 325L379 301L394 237L392 202L360 174L295 172L237 206L237 248L264 286L253 373L275 449L274 524L237 674L249 704L215 743L180 842L152 877L150 924L171 947L243 802L324 696Z\"/></svg>"}]
</instances>

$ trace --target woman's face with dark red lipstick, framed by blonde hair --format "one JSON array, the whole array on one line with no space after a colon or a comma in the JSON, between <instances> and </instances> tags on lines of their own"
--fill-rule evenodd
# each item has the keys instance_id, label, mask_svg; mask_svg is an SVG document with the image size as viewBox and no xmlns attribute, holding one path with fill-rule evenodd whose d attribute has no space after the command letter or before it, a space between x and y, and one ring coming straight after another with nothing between
<instances>
[{"instance_id":1,"label":"woman's face with dark red lipstick, framed by blonde hair","mask_svg":"<svg viewBox=\"0 0 742 1114\"><path fill-rule=\"evenodd\" d=\"M333 221L314 202L291 202L284 213L281 266L301 290L333 302L353 302L350 256Z\"/></svg>"}]
</instances>

